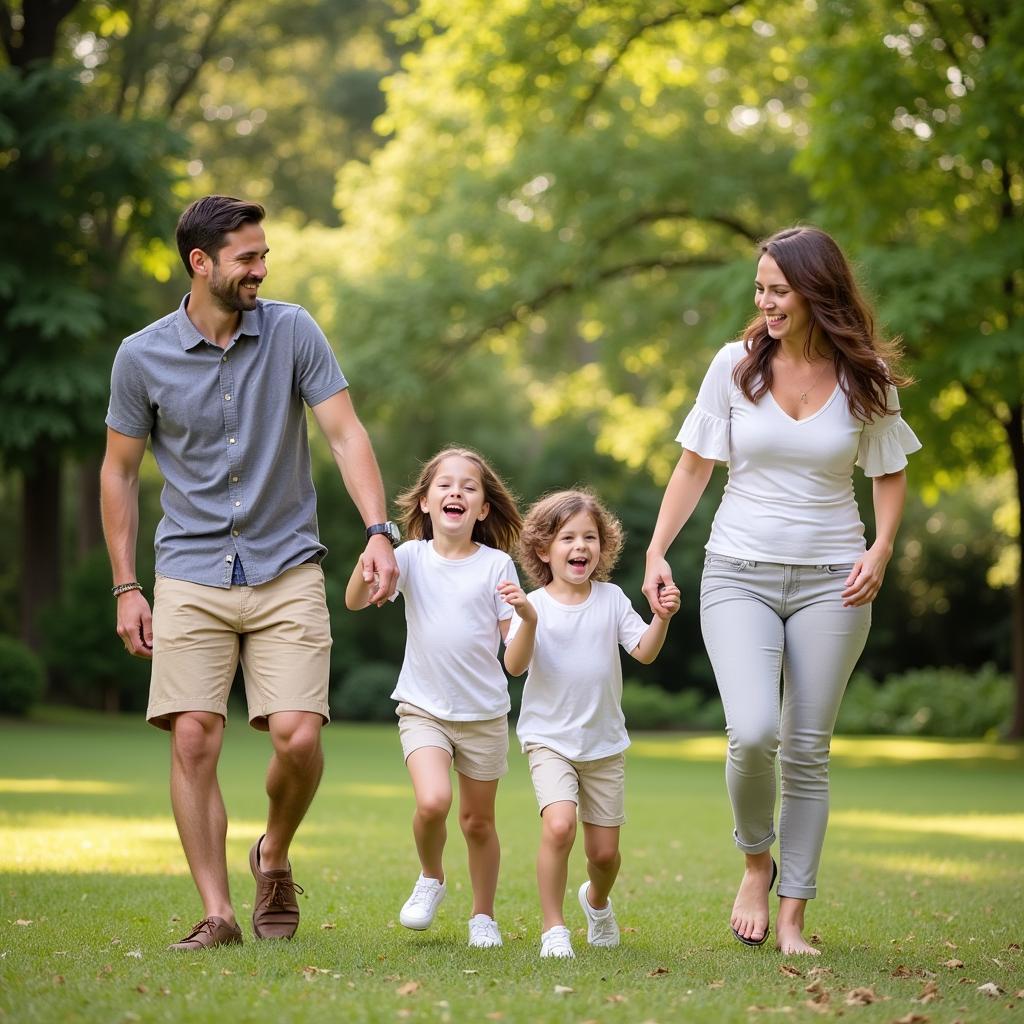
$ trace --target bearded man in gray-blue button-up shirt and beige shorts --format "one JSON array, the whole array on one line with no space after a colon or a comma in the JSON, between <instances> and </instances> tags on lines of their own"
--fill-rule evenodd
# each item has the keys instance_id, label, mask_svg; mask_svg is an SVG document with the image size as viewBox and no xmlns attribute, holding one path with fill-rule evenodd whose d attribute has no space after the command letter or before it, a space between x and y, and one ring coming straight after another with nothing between
<instances>
[{"instance_id":1,"label":"bearded man in gray-blue button-up shirt and beige shorts","mask_svg":"<svg viewBox=\"0 0 1024 1024\"><path fill-rule=\"evenodd\" d=\"M302 307L257 298L263 216L224 196L184 211L177 244L191 288L122 343L111 378L100 495L118 634L153 658L146 720L171 734L171 804L204 907L179 950L242 941L217 782L240 657L250 724L273 743L266 833L249 855L253 931L291 938L298 926L288 851L323 772L331 648L305 406L367 524L375 604L397 577L380 471L327 339ZM135 579L146 437L164 476L152 615Z\"/></svg>"}]
</instances>

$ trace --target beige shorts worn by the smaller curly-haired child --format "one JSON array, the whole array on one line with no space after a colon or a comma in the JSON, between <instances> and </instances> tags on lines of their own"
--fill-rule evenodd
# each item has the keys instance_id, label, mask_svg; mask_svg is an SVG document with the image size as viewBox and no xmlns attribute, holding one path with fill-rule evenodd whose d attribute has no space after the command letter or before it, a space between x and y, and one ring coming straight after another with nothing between
<instances>
[{"instance_id":1,"label":"beige shorts worn by the smaller curly-haired child","mask_svg":"<svg viewBox=\"0 0 1024 1024\"><path fill-rule=\"evenodd\" d=\"M580 820L611 828L626 821L626 755L596 761L570 761L541 743L526 744L529 774L541 813L548 804L567 800L580 808Z\"/></svg>"}]
</instances>

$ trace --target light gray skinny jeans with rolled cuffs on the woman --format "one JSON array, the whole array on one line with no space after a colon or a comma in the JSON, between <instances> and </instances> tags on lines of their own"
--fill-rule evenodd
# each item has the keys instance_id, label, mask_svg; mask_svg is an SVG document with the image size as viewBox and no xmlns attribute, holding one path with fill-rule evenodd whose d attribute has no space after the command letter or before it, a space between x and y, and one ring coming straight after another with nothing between
<instances>
[{"instance_id":1,"label":"light gray skinny jeans with rolled cuffs on the woman","mask_svg":"<svg viewBox=\"0 0 1024 1024\"><path fill-rule=\"evenodd\" d=\"M828 821L828 748L871 625L869 604L843 607L840 594L851 567L705 559L700 629L725 707L733 837L744 853L763 853L775 841L780 754L780 896L817 894Z\"/></svg>"}]
</instances>

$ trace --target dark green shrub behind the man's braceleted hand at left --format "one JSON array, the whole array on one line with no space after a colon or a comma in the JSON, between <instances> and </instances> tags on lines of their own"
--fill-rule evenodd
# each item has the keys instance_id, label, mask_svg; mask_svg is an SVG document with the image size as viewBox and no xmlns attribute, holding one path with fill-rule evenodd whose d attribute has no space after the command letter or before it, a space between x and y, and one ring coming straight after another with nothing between
<instances>
[{"instance_id":1,"label":"dark green shrub behind the man's braceleted hand at left","mask_svg":"<svg viewBox=\"0 0 1024 1024\"><path fill-rule=\"evenodd\" d=\"M152 565L153 556L143 548L140 580L152 579ZM57 699L83 708L142 711L151 663L125 653L110 593L110 562L105 550L97 548L68 573L60 599L46 609L42 655ZM147 597L152 600L152 594Z\"/></svg>"}]
</instances>

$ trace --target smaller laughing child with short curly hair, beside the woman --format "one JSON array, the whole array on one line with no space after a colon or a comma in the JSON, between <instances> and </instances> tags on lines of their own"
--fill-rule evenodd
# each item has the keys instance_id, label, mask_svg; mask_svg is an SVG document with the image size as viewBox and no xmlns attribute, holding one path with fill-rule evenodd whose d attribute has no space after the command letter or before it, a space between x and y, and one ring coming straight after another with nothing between
<instances>
[{"instance_id":1,"label":"smaller laughing child with short curly hair, beside the woman","mask_svg":"<svg viewBox=\"0 0 1024 1024\"><path fill-rule=\"evenodd\" d=\"M618 945L609 893L622 863L623 752L630 740L617 648L649 665L679 610L679 588L667 586L648 626L623 591L604 582L622 544L617 519L597 498L585 490L558 492L534 505L519 539L520 562L540 589L525 597L514 585L499 588L517 612L505 667L514 676L529 668L516 732L541 807L537 880L545 957L574 955L562 901L578 807L590 877L579 891L587 941Z\"/></svg>"}]
</instances>

